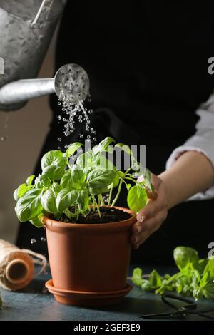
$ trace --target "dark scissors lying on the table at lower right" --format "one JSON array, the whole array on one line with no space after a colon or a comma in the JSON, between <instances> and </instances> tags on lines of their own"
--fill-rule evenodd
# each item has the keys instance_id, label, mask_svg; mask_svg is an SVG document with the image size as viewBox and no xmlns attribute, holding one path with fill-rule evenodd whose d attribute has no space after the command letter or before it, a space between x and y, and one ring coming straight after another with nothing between
<instances>
[{"instance_id":1,"label":"dark scissors lying on the table at lower right","mask_svg":"<svg viewBox=\"0 0 214 335\"><path fill-rule=\"evenodd\" d=\"M171 293L166 293L163 294L163 296L161 297L162 301L167 304L168 306L170 306L171 308L173 308L173 311L167 311L167 312L163 312L163 313L156 313L156 314L147 314L147 315L141 315L139 316L141 319L156 319L156 318L161 318L164 316L168 316L168 317L185 317L188 314L198 314L200 316L203 316L205 318L208 319L212 319L214 320L214 316L209 316L206 315L205 313L208 313L210 311L214 311L214 307L211 309L200 309L195 311L195 309L197 309L197 303L191 299L185 298L185 297L179 297L175 294L171 294ZM168 301L168 299L174 299L176 301L182 301L185 302L185 304L183 306L176 306L175 304L173 304L171 301Z\"/></svg>"}]
</instances>

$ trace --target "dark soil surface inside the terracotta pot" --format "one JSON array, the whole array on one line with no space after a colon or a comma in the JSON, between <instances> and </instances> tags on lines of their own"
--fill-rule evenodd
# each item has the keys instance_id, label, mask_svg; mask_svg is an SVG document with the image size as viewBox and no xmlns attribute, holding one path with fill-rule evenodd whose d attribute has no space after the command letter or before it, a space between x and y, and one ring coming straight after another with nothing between
<instances>
[{"instance_id":1,"label":"dark soil surface inside the terracotta pot","mask_svg":"<svg viewBox=\"0 0 214 335\"><path fill-rule=\"evenodd\" d=\"M99 217L98 212L90 212L86 217L80 215L78 220L71 220L63 214L58 221L68 223L108 223L127 220L131 217L127 212L123 212L123 210L118 210L117 208L100 207L100 211L101 217Z\"/></svg>"}]
</instances>

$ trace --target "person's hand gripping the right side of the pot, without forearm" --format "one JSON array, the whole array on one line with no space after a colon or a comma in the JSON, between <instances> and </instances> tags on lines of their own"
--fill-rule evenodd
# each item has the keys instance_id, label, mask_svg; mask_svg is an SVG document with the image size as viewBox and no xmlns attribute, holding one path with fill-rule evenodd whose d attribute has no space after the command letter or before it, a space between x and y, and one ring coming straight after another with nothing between
<instances>
[{"instance_id":1,"label":"person's hand gripping the right side of the pot, without forearm","mask_svg":"<svg viewBox=\"0 0 214 335\"><path fill-rule=\"evenodd\" d=\"M138 178L141 182L142 177ZM156 175L151 176L151 181L156 190L154 200L149 200L146 207L137 214L137 222L132 227L133 234L131 242L134 249L138 249L148 237L161 227L162 222L166 219L168 213L168 201L166 195L165 182ZM150 195L148 195L150 198Z\"/></svg>"}]
</instances>

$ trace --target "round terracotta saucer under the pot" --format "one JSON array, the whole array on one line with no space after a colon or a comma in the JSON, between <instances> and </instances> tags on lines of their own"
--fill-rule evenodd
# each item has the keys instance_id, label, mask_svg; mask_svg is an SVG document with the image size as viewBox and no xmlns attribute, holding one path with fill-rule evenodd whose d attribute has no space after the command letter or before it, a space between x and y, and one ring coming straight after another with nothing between
<instances>
[{"instance_id":1,"label":"round terracotta saucer under the pot","mask_svg":"<svg viewBox=\"0 0 214 335\"><path fill-rule=\"evenodd\" d=\"M118 304L131 291L132 286L126 284L124 289L108 292L83 292L58 289L54 287L52 279L46 282L46 288L54 294L56 301L72 306L109 306Z\"/></svg>"}]
</instances>

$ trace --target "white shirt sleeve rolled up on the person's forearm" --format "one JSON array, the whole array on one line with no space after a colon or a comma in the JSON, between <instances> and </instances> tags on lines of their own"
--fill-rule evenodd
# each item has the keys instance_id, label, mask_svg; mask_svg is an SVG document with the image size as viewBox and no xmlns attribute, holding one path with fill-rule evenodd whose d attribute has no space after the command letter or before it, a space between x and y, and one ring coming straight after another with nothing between
<instances>
[{"instance_id":1,"label":"white shirt sleeve rolled up on the person's forearm","mask_svg":"<svg viewBox=\"0 0 214 335\"><path fill-rule=\"evenodd\" d=\"M173 150L166 162L166 170L168 170L175 160L185 151L195 150L203 153L214 165L214 91L210 98L200 105L195 112L200 116L200 120L196 123L196 132L193 136L178 148ZM188 200L206 200L214 197L214 185L204 192L199 192Z\"/></svg>"}]
</instances>

